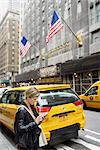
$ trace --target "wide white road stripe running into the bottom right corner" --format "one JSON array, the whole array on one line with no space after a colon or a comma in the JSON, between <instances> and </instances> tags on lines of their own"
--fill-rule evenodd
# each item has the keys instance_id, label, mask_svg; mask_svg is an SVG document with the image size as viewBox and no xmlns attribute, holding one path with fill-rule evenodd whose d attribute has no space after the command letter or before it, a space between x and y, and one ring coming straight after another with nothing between
<instances>
[{"instance_id":1,"label":"wide white road stripe running into the bottom right corner","mask_svg":"<svg viewBox=\"0 0 100 150\"><path fill-rule=\"evenodd\" d=\"M93 144L87 143L81 139L71 139L71 141L76 142L81 145L84 145L85 147L89 148L90 150L100 150L99 146L95 146Z\"/></svg>"}]
</instances>

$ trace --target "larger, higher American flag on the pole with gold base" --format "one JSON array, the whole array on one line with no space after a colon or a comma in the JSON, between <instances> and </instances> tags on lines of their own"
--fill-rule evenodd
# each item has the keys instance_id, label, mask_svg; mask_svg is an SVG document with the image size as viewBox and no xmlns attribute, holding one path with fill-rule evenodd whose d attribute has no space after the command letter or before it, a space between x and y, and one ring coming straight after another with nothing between
<instances>
[{"instance_id":1,"label":"larger, higher American flag on the pole with gold base","mask_svg":"<svg viewBox=\"0 0 100 150\"><path fill-rule=\"evenodd\" d=\"M62 21L60 16L57 14L56 11L53 13L53 17L51 20L51 26L46 36L46 43L63 27Z\"/></svg>"}]
</instances>

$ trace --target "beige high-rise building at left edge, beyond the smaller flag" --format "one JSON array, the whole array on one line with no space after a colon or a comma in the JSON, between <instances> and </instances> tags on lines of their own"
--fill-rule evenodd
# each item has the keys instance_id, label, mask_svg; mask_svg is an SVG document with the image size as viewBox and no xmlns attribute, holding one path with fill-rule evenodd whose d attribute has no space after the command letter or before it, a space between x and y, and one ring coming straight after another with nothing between
<instances>
[{"instance_id":1,"label":"beige high-rise building at left edge, beyond the smaller flag","mask_svg":"<svg viewBox=\"0 0 100 150\"><path fill-rule=\"evenodd\" d=\"M15 81L19 71L19 13L8 11L0 23L0 80Z\"/></svg>"}]
</instances>

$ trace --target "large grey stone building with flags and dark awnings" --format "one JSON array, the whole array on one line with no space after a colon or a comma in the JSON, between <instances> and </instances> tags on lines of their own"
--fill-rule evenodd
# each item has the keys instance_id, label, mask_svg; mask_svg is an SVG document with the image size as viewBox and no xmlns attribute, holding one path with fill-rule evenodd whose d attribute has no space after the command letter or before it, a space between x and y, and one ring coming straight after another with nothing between
<instances>
[{"instance_id":1,"label":"large grey stone building with flags and dark awnings","mask_svg":"<svg viewBox=\"0 0 100 150\"><path fill-rule=\"evenodd\" d=\"M55 9L65 20L64 27L46 44ZM23 12L22 35L31 42L32 48L21 59L21 72L23 76L26 72L33 73L26 80L18 75L17 82L70 83L78 93L82 93L100 79L99 0L63 0L58 3L26 0ZM76 39L78 35L82 40L81 46ZM35 79L36 70L39 70L38 79Z\"/></svg>"}]
</instances>

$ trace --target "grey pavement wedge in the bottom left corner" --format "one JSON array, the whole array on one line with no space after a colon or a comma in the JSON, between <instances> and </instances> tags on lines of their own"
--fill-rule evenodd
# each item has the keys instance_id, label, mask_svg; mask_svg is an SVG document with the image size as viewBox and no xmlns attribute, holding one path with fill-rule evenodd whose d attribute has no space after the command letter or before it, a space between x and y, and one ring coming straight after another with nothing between
<instances>
[{"instance_id":1,"label":"grey pavement wedge in the bottom left corner","mask_svg":"<svg viewBox=\"0 0 100 150\"><path fill-rule=\"evenodd\" d=\"M1 133L0 131L0 149L2 150L16 150L15 146Z\"/></svg>"}]
</instances>

